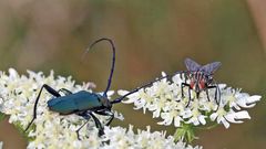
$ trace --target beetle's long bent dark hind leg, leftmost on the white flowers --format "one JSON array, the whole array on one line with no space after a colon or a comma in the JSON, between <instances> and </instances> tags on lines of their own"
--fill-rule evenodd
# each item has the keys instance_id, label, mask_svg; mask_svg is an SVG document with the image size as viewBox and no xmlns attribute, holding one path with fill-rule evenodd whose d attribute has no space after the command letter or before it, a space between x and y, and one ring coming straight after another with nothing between
<instances>
[{"instance_id":1,"label":"beetle's long bent dark hind leg, leftmost on the white flowers","mask_svg":"<svg viewBox=\"0 0 266 149\"><path fill-rule=\"evenodd\" d=\"M40 99L40 96L41 96L41 93L42 93L42 89L43 89L43 88L44 88L47 92L49 92L50 94L52 94L53 96L55 96L55 97L60 97L60 96L61 96L61 95L60 95L57 91L54 91L52 87L50 87L50 86L47 85L47 84L43 84L42 87L41 87L41 89L40 89L40 92L39 92L39 94L38 94L38 96L37 96L37 99L35 99L35 104L34 104L34 108L33 108L33 118L31 119L30 124L27 126L27 128L25 128L24 131L27 131L27 130L30 128L30 126L32 125L32 123L33 123L34 119L37 118L37 105L38 105L38 102L39 102L39 99Z\"/></svg>"}]
</instances>

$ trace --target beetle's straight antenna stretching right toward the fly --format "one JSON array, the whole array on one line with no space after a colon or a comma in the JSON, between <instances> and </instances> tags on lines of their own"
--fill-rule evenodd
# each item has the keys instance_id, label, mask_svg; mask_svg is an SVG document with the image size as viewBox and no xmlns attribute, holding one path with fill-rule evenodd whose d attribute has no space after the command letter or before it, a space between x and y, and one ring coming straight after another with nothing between
<instances>
[{"instance_id":1,"label":"beetle's straight antenna stretching right toward the fly","mask_svg":"<svg viewBox=\"0 0 266 149\"><path fill-rule=\"evenodd\" d=\"M162 81L162 79L164 79L164 78L170 78L170 77L173 77L173 76L176 75L176 74L182 74L182 73L185 73L185 72L186 72L186 71L180 71L180 72L175 72L175 73L172 74L172 75L161 76L161 77L156 78L155 81L152 81L152 82L150 82L150 83L147 83L147 84L145 84L145 85L142 85L141 87L136 87L135 89L131 91L130 93L127 93L127 94L125 94L125 95L123 95L123 96L121 96L121 97L112 100L111 104L117 104L117 103L122 102L125 97L130 96L131 94L134 94L134 93L139 92L139 91L142 89L142 88L149 87L149 86L151 86L151 85L152 85L153 83L155 83L155 82Z\"/></svg>"}]
</instances>

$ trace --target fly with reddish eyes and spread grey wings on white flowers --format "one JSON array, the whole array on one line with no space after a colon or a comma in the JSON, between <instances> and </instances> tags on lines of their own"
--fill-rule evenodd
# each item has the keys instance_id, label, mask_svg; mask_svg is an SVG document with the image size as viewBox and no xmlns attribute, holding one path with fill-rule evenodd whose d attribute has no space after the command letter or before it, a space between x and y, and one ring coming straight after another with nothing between
<instances>
[{"instance_id":1,"label":"fly with reddish eyes and spread grey wings on white flowers","mask_svg":"<svg viewBox=\"0 0 266 149\"><path fill-rule=\"evenodd\" d=\"M202 91L206 92L207 99L209 100L208 96L208 89L209 88L215 88L215 102L218 105L217 100L217 94L219 94L219 99L221 99L221 93L219 93L219 87L216 84L216 82L213 79L213 73L218 70L218 67L222 65L221 62L213 62L209 64L206 64L204 66L201 66L196 62L194 62L191 58L185 60L185 65L187 71L184 72L185 76L185 83L181 84L181 92L182 92L182 97L184 97L184 87L188 87L188 97L190 100L187 103L187 106L190 105L191 102L191 89L195 91L196 97L200 97L200 93ZM190 83L187 83L187 78L190 79Z\"/></svg>"}]
</instances>

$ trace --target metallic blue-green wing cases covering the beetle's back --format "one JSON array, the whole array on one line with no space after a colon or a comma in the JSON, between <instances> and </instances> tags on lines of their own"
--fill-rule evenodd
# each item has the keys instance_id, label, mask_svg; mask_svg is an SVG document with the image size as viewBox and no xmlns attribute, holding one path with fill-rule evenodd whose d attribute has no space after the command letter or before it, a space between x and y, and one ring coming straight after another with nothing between
<instances>
[{"instance_id":1,"label":"metallic blue-green wing cases covering the beetle's back","mask_svg":"<svg viewBox=\"0 0 266 149\"><path fill-rule=\"evenodd\" d=\"M68 96L52 98L48 102L50 110L68 115L75 111L82 111L101 107L99 95L81 91Z\"/></svg>"}]
</instances>

